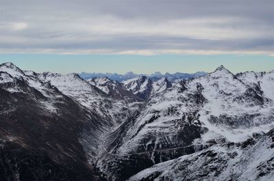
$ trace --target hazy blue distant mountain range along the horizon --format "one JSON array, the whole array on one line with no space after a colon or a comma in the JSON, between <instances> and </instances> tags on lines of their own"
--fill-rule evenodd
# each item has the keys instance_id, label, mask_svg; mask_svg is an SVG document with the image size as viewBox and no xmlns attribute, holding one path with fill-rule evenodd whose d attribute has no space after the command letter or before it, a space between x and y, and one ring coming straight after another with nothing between
<instances>
[{"instance_id":1,"label":"hazy blue distant mountain range along the horizon","mask_svg":"<svg viewBox=\"0 0 274 181\"><path fill-rule=\"evenodd\" d=\"M155 79L155 81L158 81L159 79L166 77L169 81L176 81L178 79L190 79L195 78L199 76L205 76L207 75L207 72L195 72L192 74L188 73L182 73L182 72L176 72L174 74L171 74L169 72L166 72L165 74L162 74L161 72L154 72L153 74L135 74L134 72L127 72L125 74L117 74L117 73L88 73L88 72L82 72L79 74L83 79L91 79L94 77L104 77L107 76L108 78L114 80L114 81L126 81L127 79L136 78L139 76L147 76L149 78Z\"/></svg>"}]
</instances>

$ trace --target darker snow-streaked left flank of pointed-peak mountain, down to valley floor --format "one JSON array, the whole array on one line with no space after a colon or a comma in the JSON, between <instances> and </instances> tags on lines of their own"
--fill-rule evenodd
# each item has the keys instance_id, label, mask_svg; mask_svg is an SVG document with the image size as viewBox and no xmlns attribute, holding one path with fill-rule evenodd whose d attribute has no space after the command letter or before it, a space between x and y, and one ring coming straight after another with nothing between
<instances>
[{"instance_id":1,"label":"darker snow-streaked left flank of pointed-peak mountain, down to valley floor","mask_svg":"<svg viewBox=\"0 0 274 181\"><path fill-rule=\"evenodd\" d=\"M153 96L105 136L107 141L97 162L100 171L111 180L124 180L155 163L200 150L202 146L192 145L192 141L203 131L197 115L205 101L201 90L199 84L186 88L184 83L177 83Z\"/></svg>"}]
</instances>

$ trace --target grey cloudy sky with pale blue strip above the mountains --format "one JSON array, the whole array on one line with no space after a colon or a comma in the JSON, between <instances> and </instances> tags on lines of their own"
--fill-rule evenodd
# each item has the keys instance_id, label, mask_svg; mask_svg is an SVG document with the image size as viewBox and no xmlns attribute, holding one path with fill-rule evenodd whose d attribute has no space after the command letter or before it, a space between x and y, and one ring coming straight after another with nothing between
<instances>
[{"instance_id":1,"label":"grey cloudy sky with pale blue strip above the mountains","mask_svg":"<svg viewBox=\"0 0 274 181\"><path fill-rule=\"evenodd\" d=\"M20 60L23 64L25 60L25 67L32 68L37 55L60 61L68 55L77 61L81 55L89 55L85 59L90 59L90 65L101 65L89 72L98 72L104 70L105 59L122 64L119 57L138 61L149 56L153 64L168 57L166 61L182 59L183 64L186 55L204 55L205 61L210 55L227 59L229 65L225 55L243 55L243 61L258 59L252 63L253 69L269 64L261 68L266 70L274 69L273 29L274 0L0 0L0 61ZM193 60L193 65L199 61ZM198 68L211 70L219 63ZM127 64L126 68L135 70L131 62ZM164 64L159 69L166 72ZM107 71L125 70L107 68L103 72Z\"/></svg>"}]
</instances>

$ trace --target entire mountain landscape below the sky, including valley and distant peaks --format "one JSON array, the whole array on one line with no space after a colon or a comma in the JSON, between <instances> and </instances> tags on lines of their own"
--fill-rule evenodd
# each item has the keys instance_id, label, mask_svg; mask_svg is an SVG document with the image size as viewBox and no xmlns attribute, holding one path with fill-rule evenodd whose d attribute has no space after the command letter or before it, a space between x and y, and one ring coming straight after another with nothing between
<instances>
[{"instance_id":1,"label":"entire mountain landscape below the sky, including valley and distant peaks","mask_svg":"<svg viewBox=\"0 0 274 181\"><path fill-rule=\"evenodd\" d=\"M93 75L0 64L0 180L274 178L274 71Z\"/></svg>"}]
</instances>

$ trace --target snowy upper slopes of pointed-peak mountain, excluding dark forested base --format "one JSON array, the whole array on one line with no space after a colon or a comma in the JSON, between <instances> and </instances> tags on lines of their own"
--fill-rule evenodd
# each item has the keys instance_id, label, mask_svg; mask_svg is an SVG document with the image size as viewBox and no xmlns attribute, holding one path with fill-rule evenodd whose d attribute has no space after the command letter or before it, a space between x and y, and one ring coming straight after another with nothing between
<instances>
[{"instance_id":1,"label":"snowy upper slopes of pointed-peak mountain, excluding dark forested base","mask_svg":"<svg viewBox=\"0 0 274 181\"><path fill-rule=\"evenodd\" d=\"M177 83L152 97L116 151L136 152L140 147L145 151L151 143L155 143L154 149L163 144L181 145L178 136L186 124L208 130L198 142L243 141L254 132L274 127L274 104L221 66L207 76Z\"/></svg>"}]
</instances>

